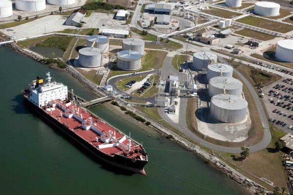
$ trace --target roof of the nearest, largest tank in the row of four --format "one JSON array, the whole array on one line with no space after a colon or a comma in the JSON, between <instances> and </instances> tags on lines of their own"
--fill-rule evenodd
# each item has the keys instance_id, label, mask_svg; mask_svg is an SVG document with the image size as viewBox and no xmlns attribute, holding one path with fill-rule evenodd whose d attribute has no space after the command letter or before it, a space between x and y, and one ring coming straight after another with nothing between
<instances>
[{"instance_id":1,"label":"roof of the nearest, largest tank in the row of four","mask_svg":"<svg viewBox=\"0 0 293 195\"><path fill-rule=\"evenodd\" d=\"M248 103L244 98L239 98L230 94L215 95L210 101L215 106L228 110L240 110L248 106Z\"/></svg>"}]
</instances>

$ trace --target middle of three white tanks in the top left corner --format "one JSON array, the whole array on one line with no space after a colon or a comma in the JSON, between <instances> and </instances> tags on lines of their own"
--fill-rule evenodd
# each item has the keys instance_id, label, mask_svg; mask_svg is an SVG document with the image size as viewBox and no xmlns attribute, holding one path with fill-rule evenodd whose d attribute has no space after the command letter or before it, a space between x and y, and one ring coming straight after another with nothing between
<instances>
[{"instance_id":1,"label":"middle of three white tanks in the top left corner","mask_svg":"<svg viewBox=\"0 0 293 195\"><path fill-rule=\"evenodd\" d=\"M46 0L15 0L15 8L27 12L41 11L46 9Z\"/></svg>"}]
</instances>

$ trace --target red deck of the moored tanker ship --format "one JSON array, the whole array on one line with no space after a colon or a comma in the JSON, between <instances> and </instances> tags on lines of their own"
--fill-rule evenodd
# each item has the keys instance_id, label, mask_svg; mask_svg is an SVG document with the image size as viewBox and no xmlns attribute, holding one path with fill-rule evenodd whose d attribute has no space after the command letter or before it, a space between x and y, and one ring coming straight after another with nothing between
<instances>
[{"instance_id":1,"label":"red deck of the moored tanker ship","mask_svg":"<svg viewBox=\"0 0 293 195\"><path fill-rule=\"evenodd\" d=\"M51 102L53 103L53 101ZM57 104L63 104L65 106L65 103L63 103L60 100L55 100L55 103ZM79 108L77 105L75 105L74 103L72 103L69 106L65 106L67 107L68 110L72 110L72 107L74 108ZM117 145L117 146L113 146L113 147L107 147L107 148L102 148L99 149L98 146L101 144L110 144L110 143L115 143L114 141L108 142L108 143L104 143L101 140L101 136L96 133L94 130L89 129L89 130L84 130L82 128L82 122L77 120L75 117L65 117L65 112L63 109L61 109L59 106L55 107L55 110L48 110L49 107L47 107L47 109L43 108L43 110L49 114L51 117L54 117L57 121L59 121L62 124L67 125L68 129L72 132L74 132L75 134L77 134L79 137L82 137L85 141L87 141L88 143L90 143L91 145L93 145L94 147L96 147L98 150L102 151L103 153L107 154L107 155L114 155L114 154L119 154L122 155L123 153L126 153L126 155L130 158L136 158L136 159L141 159L140 156L143 159L146 159L145 156L142 156L140 154L134 153L135 149L140 150L141 146L140 145L136 145L135 142L133 142L132 140L130 141L131 143L131 148L130 151L133 152L129 154L129 150L126 150L125 147L121 146L121 145ZM52 108L52 107L51 107ZM74 109L73 109L74 110ZM116 132L116 139L118 139L118 141L124 137L124 135L122 133L120 133L119 131L117 131L116 129L114 129L113 127L109 126L108 124L106 124L105 122L103 122L100 118L92 116L90 113L88 113L86 110L79 108L79 114L82 114L83 119L87 119L87 121L89 121L88 118L92 117L92 121L96 122L96 127L99 128L100 131L102 131L105 134L108 134L109 130ZM62 113L62 117L61 117L61 113ZM77 111L75 111L75 113L77 114ZM94 125L94 123L92 122L91 125ZM96 141L96 137L98 137L98 141ZM128 146L128 138L126 138L123 142L124 145Z\"/></svg>"}]
</instances>

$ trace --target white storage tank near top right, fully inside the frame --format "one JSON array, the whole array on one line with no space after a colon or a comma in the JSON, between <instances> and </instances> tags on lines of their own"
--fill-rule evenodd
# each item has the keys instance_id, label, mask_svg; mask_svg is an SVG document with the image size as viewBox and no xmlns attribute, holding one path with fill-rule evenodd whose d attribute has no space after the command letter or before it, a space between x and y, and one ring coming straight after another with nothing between
<instances>
[{"instance_id":1,"label":"white storage tank near top right, fully inside the frame","mask_svg":"<svg viewBox=\"0 0 293 195\"><path fill-rule=\"evenodd\" d=\"M260 1L254 6L254 13L260 16L277 16L280 12L280 5L274 2Z\"/></svg>"}]
</instances>

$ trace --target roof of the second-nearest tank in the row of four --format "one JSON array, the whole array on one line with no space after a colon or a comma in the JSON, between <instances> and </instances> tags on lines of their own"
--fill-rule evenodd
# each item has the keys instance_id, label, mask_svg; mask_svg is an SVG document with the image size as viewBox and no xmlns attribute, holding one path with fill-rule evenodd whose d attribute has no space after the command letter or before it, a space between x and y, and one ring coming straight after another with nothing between
<instances>
[{"instance_id":1,"label":"roof of the second-nearest tank in the row of four","mask_svg":"<svg viewBox=\"0 0 293 195\"><path fill-rule=\"evenodd\" d=\"M225 87L227 90L239 89L243 86L240 80L230 77L214 77L209 79L209 83L217 88Z\"/></svg>"}]
</instances>

